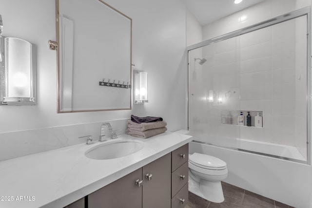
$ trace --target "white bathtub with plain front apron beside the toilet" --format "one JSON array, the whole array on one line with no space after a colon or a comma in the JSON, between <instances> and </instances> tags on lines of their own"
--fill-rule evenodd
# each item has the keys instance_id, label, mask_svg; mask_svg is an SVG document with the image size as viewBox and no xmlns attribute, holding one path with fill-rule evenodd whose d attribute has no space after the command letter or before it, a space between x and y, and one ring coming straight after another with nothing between
<instances>
[{"instance_id":1,"label":"white bathtub with plain front apron beside the toilet","mask_svg":"<svg viewBox=\"0 0 312 208\"><path fill-rule=\"evenodd\" d=\"M283 157L302 159L303 156L299 151L292 147L246 139L236 140L237 148L198 142L196 140L202 141L202 138L195 136L193 139L195 141L189 145L190 154L198 152L213 155L227 163L229 173L225 182L292 207L309 207L312 192L311 166L282 159ZM222 143L225 144L225 142L219 144ZM260 149L264 153L254 153ZM279 158L269 156L272 153L276 155L276 152L279 152Z\"/></svg>"}]
</instances>

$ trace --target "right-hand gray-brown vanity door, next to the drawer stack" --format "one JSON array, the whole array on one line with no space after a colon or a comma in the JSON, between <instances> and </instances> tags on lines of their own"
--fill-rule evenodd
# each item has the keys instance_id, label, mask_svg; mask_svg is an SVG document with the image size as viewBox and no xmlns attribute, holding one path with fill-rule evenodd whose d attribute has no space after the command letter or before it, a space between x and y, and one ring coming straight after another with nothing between
<instances>
[{"instance_id":1,"label":"right-hand gray-brown vanity door, next to the drawer stack","mask_svg":"<svg viewBox=\"0 0 312 208\"><path fill-rule=\"evenodd\" d=\"M143 208L170 208L171 153L144 166L143 181Z\"/></svg>"}]
</instances>

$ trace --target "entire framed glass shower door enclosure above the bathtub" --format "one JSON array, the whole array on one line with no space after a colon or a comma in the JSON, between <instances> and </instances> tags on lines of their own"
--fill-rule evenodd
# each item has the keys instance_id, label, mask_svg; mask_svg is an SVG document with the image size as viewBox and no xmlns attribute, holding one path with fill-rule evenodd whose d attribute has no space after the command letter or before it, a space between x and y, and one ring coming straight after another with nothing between
<instances>
[{"instance_id":1,"label":"entire framed glass shower door enclosure above the bathtub","mask_svg":"<svg viewBox=\"0 0 312 208\"><path fill-rule=\"evenodd\" d=\"M309 25L301 9L188 47L194 139L310 164Z\"/></svg>"}]
</instances>

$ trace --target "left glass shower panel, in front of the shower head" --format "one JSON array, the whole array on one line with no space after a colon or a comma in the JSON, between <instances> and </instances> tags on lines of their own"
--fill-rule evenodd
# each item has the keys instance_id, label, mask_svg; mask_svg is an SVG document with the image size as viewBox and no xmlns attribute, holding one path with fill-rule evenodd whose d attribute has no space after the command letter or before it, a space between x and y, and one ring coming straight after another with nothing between
<instances>
[{"instance_id":1,"label":"left glass shower panel, in front of the shower head","mask_svg":"<svg viewBox=\"0 0 312 208\"><path fill-rule=\"evenodd\" d=\"M189 130L195 139L237 148L238 38L189 51ZM206 60L206 61L204 61Z\"/></svg>"}]
</instances>

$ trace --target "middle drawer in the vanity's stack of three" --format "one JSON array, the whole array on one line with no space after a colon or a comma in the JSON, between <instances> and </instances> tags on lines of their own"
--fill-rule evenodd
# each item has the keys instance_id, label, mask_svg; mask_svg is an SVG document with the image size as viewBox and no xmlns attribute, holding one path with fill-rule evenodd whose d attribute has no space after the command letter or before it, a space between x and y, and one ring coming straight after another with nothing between
<instances>
[{"instance_id":1,"label":"middle drawer in the vanity's stack of three","mask_svg":"<svg viewBox=\"0 0 312 208\"><path fill-rule=\"evenodd\" d=\"M189 181L189 163L171 173L171 198Z\"/></svg>"}]
</instances>

